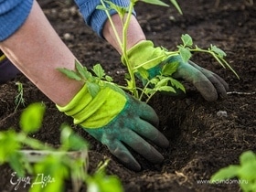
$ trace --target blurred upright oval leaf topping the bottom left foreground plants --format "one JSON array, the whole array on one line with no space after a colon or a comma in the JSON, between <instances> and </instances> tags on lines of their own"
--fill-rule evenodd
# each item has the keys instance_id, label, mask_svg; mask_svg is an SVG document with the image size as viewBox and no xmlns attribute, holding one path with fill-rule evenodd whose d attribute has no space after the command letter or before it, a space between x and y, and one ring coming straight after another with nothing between
<instances>
[{"instance_id":1,"label":"blurred upright oval leaf topping the bottom left foreground plants","mask_svg":"<svg viewBox=\"0 0 256 192\"><path fill-rule=\"evenodd\" d=\"M22 112L20 116L20 127L25 133L34 133L42 125L46 107L41 102L35 102Z\"/></svg>"}]
</instances>

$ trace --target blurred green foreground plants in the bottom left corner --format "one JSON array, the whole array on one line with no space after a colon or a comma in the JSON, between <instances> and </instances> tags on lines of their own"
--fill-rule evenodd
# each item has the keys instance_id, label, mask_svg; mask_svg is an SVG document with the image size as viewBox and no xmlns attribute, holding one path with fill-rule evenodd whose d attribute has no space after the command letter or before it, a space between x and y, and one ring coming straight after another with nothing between
<instances>
[{"instance_id":1,"label":"blurred green foreground plants in the bottom left corner","mask_svg":"<svg viewBox=\"0 0 256 192\"><path fill-rule=\"evenodd\" d=\"M93 176L87 174L88 144L68 125L61 126L59 148L29 137L41 127L44 112L42 103L30 104L21 114L19 133L12 129L0 132L0 165L8 163L15 170L10 184L16 190L30 187L30 192L60 192L70 177L74 192L80 190L82 183L90 188L101 188L102 183L108 183L117 192L123 191L120 180L107 176L103 168L101 176L97 172ZM24 150L24 147L29 149Z\"/></svg>"}]
</instances>

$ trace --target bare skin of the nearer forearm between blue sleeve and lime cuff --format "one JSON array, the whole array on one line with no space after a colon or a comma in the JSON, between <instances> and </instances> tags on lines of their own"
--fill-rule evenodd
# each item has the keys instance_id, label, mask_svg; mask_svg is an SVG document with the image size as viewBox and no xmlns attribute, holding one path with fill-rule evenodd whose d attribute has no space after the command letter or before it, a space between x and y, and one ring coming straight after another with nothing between
<instances>
[{"instance_id":1,"label":"bare skin of the nearer forearm between blue sleeve and lime cuff","mask_svg":"<svg viewBox=\"0 0 256 192\"><path fill-rule=\"evenodd\" d=\"M38 89L60 106L67 104L82 86L57 70L74 69L75 57L36 1L24 25L2 41L0 48Z\"/></svg>"}]
</instances>

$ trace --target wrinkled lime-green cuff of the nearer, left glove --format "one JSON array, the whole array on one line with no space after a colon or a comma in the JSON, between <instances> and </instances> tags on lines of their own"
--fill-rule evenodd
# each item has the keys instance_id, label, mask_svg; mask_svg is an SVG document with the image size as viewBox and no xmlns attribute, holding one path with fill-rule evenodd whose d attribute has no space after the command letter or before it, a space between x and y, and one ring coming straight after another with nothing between
<instances>
[{"instance_id":1,"label":"wrinkled lime-green cuff of the nearer, left glove","mask_svg":"<svg viewBox=\"0 0 256 192\"><path fill-rule=\"evenodd\" d=\"M66 106L57 105L57 108L73 117L75 124L84 128L101 128L123 110L125 103L125 96L109 87L102 88L92 98L85 84Z\"/></svg>"}]
</instances>

